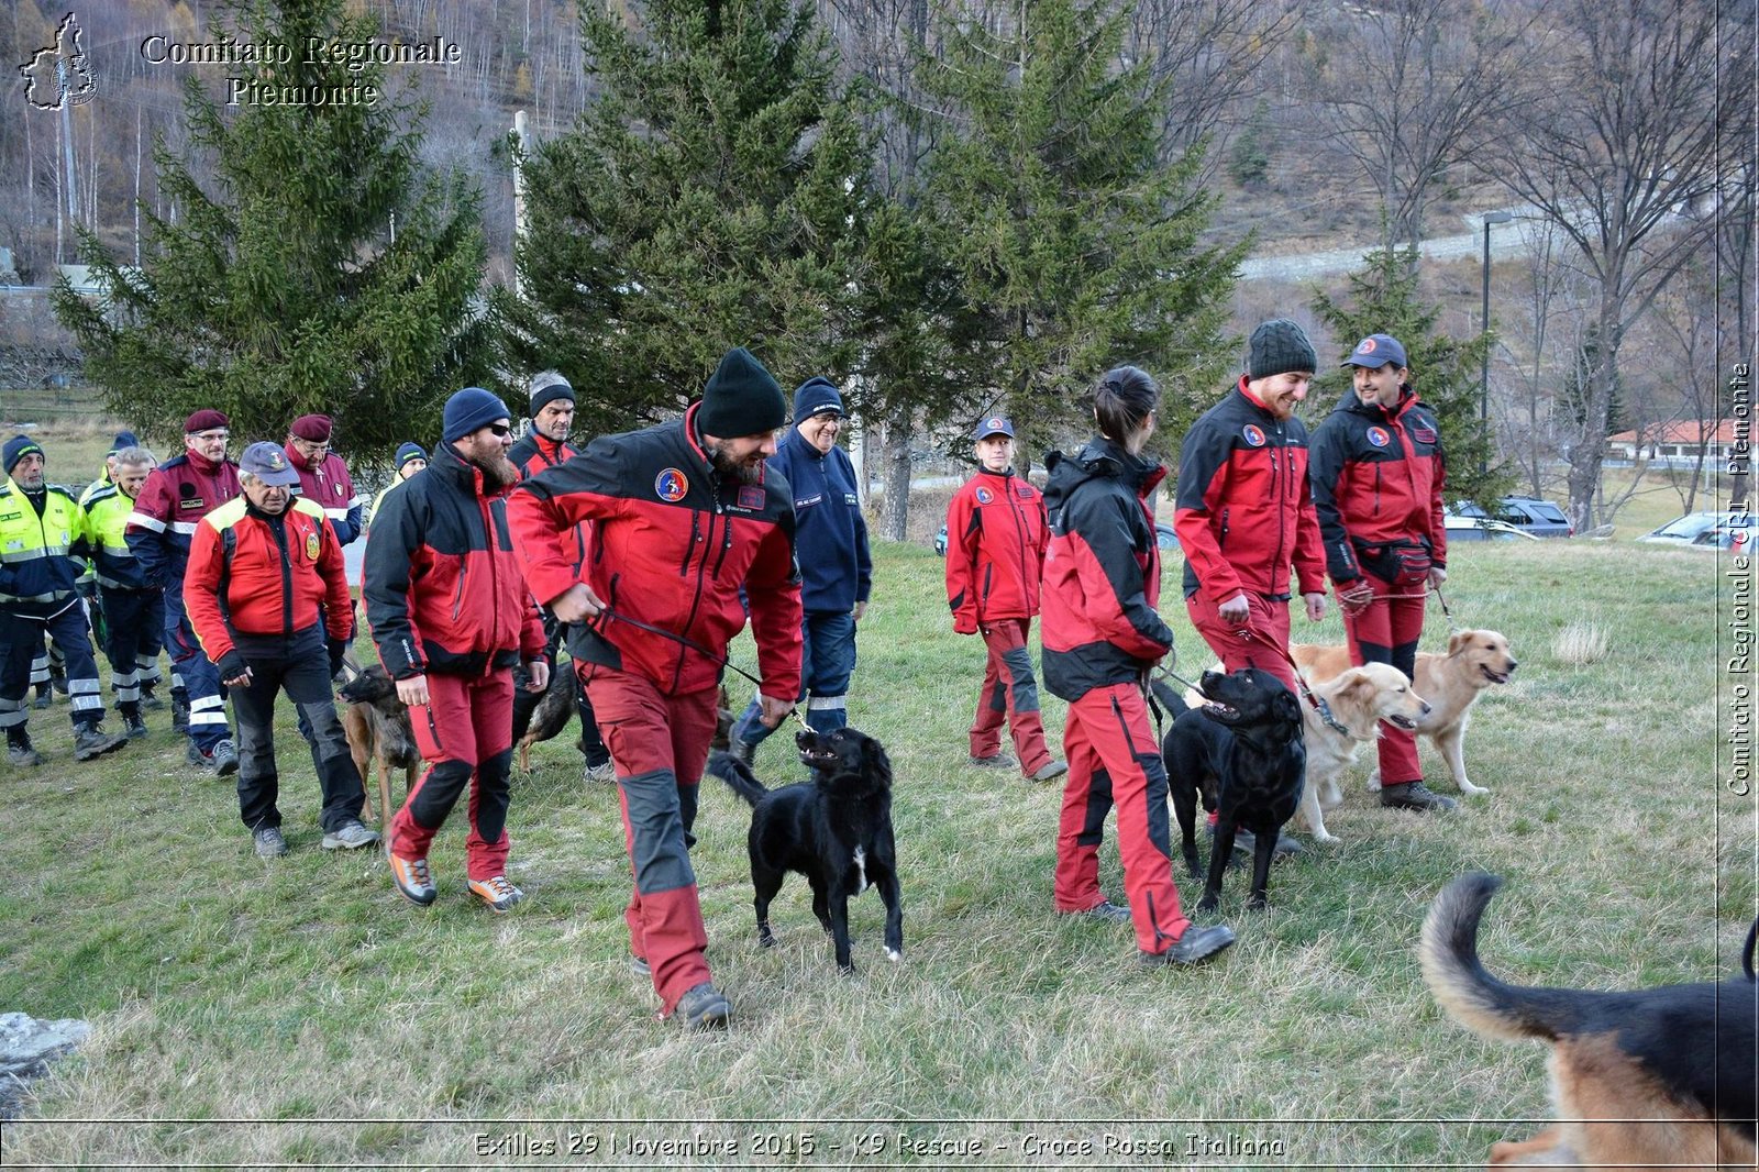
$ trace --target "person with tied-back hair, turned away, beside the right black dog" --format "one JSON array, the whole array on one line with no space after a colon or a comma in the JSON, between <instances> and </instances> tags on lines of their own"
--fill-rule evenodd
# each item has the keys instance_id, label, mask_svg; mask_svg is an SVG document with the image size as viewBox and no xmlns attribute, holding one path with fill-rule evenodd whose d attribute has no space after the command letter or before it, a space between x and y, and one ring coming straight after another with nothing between
<instances>
[{"instance_id":1,"label":"person with tied-back hair, turned away, beside the right black dog","mask_svg":"<svg viewBox=\"0 0 1759 1172\"><path fill-rule=\"evenodd\" d=\"M1061 452L1045 459L1045 686L1069 702L1055 906L1129 920L1145 964L1196 964L1231 945L1233 931L1198 927L1179 906L1166 767L1149 725L1143 681L1173 649L1173 632L1156 611L1161 553L1147 505L1166 468L1142 454L1159 401L1161 387L1145 371L1108 371L1094 391L1099 435L1071 459ZM1099 843L1113 804L1128 908L1099 889Z\"/></svg>"}]
</instances>

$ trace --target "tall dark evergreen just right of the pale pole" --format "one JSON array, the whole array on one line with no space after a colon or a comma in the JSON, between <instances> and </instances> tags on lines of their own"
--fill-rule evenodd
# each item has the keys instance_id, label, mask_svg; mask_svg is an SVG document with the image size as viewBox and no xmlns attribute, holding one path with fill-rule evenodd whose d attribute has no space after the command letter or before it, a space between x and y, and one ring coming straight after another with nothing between
<instances>
[{"instance_id":1,"label":"tall dark evergreen just right of the pale pole","mask_svg":"<svg viewBox=\"0 0 1759 1172\"><path fill-rule=\"evenodd\" d=\"M843 380L869 153L800 0L582 4L598 100L522 160L521 296L503 364L561 370L586 431L658 419L728 347ZM631 419L633 415L633 419Z\"/></svg>"}]
</instances>

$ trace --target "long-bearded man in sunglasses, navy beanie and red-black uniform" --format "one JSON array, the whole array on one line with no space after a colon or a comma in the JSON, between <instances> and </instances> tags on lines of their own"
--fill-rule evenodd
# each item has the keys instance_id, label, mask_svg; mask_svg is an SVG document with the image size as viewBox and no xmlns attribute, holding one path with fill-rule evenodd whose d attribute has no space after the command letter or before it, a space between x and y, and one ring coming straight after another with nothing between
<instances>
[{"instance_id":1,"label":"long-bearded man in sunglasses, navy beanie and red-black uniform","mask_svg":"<svg viewBox=\"0 0 1759 1172\"><path fill-rule=\"evenodd\" d=\"M427 470L385 496L366 542L366 621L427 762L389 824L390 878L410 903L434 901L427 846L473 783L466 878L505 913L524 899L507 880L514 663L524 658L544 690L544 626L507 531L519 480L507 405L466 387L447 399L440 438Z\"/></svg>"}]
</instances>

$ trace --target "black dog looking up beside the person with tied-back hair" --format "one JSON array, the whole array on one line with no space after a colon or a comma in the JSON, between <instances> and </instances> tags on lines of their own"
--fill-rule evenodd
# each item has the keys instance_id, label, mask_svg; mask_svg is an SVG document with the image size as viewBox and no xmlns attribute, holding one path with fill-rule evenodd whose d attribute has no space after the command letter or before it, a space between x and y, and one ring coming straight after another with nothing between
<instances>
[{"instance_id":1,"label":"black dog looking up beside the person with tied-back hair","mask_svg":"<svg viewBox=\"0 0 1759 1172\"><path fill-rule=\"evenodd\" d=\"M1302 802L1307 780L1307 743L1302 706L1275 676L1242 667L1223 676L1203 672L1198 683L1208 704L1187 709L1171 688L1156 685L1156 695L1179 713L1161 741L1173 811L1184 832L1186 866L1200 876L1196 845L1196 797L1215 811L1215 841L1210 846L1208 882L1198 912L1210 912L1221 899L1221 876L1233 857L1235 829L1244 827L1252 845L1252 894L1245 906L1265 906L1270 859L1277 832Z\"/></svg>"}]
</instances>

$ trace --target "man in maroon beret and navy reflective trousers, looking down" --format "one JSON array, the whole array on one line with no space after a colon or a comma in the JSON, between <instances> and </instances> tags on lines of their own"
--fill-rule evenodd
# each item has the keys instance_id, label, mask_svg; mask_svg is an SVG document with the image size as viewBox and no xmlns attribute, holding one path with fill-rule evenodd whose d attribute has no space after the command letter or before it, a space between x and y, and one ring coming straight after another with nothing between
<instances>
[{"instance_id":1,"label":"man in maroon beret and navy reflective trousers, looking down","mask_svg":"<svg viewBox=\"0 0 1759 1172\"><path fill-rule=\"evenodd\" d=\"M141 567L141 579L165 595L165 649L171 653L171 700L185 713L192 765L213 769L222 778L237 771L232 730L225 723L220 674L202 655L183 612L183 572L190 538L211 509L237 496L237 465L225 456L232 422L216 410L201 410L183 421L183 454L148 473L134 498L125 537ZM181 692L181 697L179 697ZM176 720L172 722L176 727Z\"/></svg>"}]
</instances>

